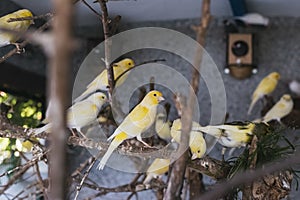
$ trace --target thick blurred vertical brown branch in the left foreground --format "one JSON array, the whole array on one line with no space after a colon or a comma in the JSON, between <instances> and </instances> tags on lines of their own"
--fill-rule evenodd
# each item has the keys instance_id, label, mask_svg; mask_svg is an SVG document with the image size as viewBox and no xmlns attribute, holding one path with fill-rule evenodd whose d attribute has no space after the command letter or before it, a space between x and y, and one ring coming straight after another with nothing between
<instances>
[{"instance_id":1,"label":"thick blurred vertical brown branch in the left foreground","mask_svg":"<svg viewBox=\"0 0 300 200\"><path fill-rule=\"evenodd\" d=\"M48 55L48 91L53 108L50 110L52 151L50 152L50 199L65 199L67 194L66 172L66 117L69 95L70 58L72 50L73 5L71 0L53 0L54 53Z\"/></svg>"}]
</instances>

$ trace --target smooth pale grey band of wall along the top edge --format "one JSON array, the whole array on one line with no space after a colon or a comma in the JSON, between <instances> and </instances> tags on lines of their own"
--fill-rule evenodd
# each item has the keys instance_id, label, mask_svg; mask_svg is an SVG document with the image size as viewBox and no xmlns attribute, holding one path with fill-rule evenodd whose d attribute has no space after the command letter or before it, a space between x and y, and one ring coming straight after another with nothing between
<instances>
[{"instance_id":1,"label":"smooth pale grey band of wall along the top edge","mask_svg":"<svg viewBox=\"0 0 300 200\"><path fill-rule=\"evenodd\" d=\"M22 7L30 8L35 14L49 12L51 1L46 0L13 0ZM92 0L87 0L92 2ZM248 0L249 12L259 12L266 16L300 16L299 0ZM91 3L92 4L92 3ZM211 11L214 16L232 15L228 0L212 0ZM99 9L98 4L92 4ZM98 24L98 19L86 6L76 6L80 25ZM110 15L121 15L124 21L161 21L173 19L197 18L201 13L199 0L129 0L111 1L108 3Z\"/></svg>"}]
</instances>

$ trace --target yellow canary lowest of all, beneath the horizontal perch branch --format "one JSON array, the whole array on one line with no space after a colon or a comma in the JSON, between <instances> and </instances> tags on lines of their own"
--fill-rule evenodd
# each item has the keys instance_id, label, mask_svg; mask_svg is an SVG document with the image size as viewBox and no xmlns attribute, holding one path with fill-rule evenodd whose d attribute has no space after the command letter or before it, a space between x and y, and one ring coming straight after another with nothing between
<instances>
[{"instance_id":1,"label":"yellow canary lowest of all, beneath the horizontal perch branch","mask_svg":"<svg viewBox=\"0 0 300 200\"><path fill-rule=\"evenodd\" d=\"M158 178L159 176L168 172L170 162L170 159L156 158L147 169L147 177L143 183L148 184L153 178Z\"/></svg>"}]
</instances>

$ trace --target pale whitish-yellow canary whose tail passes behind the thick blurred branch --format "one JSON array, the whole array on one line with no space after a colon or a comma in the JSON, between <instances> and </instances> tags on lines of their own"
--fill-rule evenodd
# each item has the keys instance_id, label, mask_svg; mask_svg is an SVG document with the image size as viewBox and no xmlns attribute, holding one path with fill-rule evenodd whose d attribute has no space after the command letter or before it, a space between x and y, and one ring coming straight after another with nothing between
<instances>
[{"instance_id":1,"label":"pale whitish-yellow canary whose tail passes behind the thick blurred branch","mask_svg":"<svg viewBox=\"0 0 300 200\"><path fill-rule=\"evenodd\" d=\"M87 99L75 103L67 111L67 126L70 129L76 129L82 136L81 128L91 124L97 119L97 115L107 97L102 92L96 92ZM49 121L49 120L45 120ZM35 129L33 132L37 135L42 132L49 132L52 124L48 123L41 128Z\"/></svg>"}]
</instances>

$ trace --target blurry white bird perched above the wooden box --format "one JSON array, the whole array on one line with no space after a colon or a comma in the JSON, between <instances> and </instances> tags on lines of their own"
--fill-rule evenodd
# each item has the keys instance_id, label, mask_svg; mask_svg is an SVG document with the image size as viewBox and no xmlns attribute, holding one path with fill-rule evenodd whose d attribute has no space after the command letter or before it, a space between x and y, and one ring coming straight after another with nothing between
<instances>
[{"instance_id":1,"label":"blurry white bird perched above the wooden box","mask_svg":"<svg viewBox=\"0 0 300 200\"><path fill-rule=\"evenodd\" d=\"M235 19L238 19L247 25L269 25L269 19L259 13L247 13L243 16L235 17Z\"/></svg>"}]
</instances>

